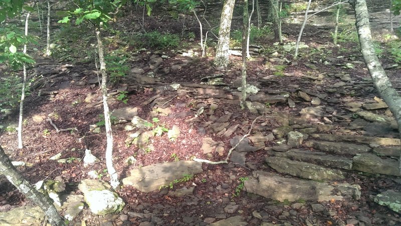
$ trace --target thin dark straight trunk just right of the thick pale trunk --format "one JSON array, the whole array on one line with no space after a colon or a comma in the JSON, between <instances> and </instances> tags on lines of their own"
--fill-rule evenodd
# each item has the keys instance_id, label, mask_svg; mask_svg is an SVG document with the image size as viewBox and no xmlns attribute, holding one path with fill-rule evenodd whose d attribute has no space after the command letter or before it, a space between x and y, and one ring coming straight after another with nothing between
<instances>
[{"instance_id":1,"label":"thin dark straight trunk just right of the thick pale trunk","mask_svg":"<svg viewBox=\"0 0 401 226\"><path fill-rule=\"evenodd\" d=\"M242 27L242 92L241 92L241 108L245 107L245 100L247 99L247 54L246 48L248 45L249 15L248 15L248 0L244 0L244 20Z\"/></svg>"}]
</instances>

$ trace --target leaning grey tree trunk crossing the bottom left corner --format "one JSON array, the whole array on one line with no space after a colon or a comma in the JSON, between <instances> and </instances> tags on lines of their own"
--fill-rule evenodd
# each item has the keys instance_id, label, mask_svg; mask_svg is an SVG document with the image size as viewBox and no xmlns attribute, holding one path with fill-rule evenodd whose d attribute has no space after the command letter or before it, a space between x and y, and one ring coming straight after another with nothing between
<instances>
[{"instance_id":1,"label":"leaning grey tree trunk crossing the bottom left corner","mask_svg":"<svg viewBox=\"0 0 401 226\"><path fill-rule=\"evenodd\" d=\"M39 192L32 186L11 163L9 156L0 146L0 174L6 175L7 179L16 186L25 196L37 204L46 214L52 225L65 225L64 220L60 217L56 207L48 196Z\"/></svg>"}]
</instances>

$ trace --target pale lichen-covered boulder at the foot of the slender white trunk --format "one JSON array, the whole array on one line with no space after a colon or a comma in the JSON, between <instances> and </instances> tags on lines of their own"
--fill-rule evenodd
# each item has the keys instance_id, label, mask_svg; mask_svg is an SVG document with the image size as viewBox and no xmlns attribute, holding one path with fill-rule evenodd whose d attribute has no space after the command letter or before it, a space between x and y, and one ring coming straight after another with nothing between
<instances>
[{"instance_id":1,"label":"pale lichen-covered boulder at the foot of the slender white trunk","mask_svg":"<svg viewBox=\"0 0 401 226\"><path fill-rule=\"evenodd\" d=\"M78 188L84 193L85 202L91 211L98 215L119 212L125 203L116 192L110 190L110 185L94 179L82 180Z\"/></svg>"}]
</instances>

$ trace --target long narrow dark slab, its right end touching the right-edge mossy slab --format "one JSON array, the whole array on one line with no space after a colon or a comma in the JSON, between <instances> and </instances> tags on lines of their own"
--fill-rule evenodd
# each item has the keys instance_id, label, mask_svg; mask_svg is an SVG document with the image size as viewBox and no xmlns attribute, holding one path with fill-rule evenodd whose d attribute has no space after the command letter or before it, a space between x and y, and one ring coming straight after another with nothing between
<instances>
[{"instance_id":1,"label":"long narrow dark slab, its right end touching the right-edge mossy slab","mask_svg":"<svg viewBox=\"0 0 401 226\"><path fill-rule=\"evenodd\" d=\"M329 167L351 169L352 159L341 156L334 156L319 151L291 149L287 152L273 152L274 156L286 157L292 160L305 161L313 164Z\"/></svg>"}]
</instances>

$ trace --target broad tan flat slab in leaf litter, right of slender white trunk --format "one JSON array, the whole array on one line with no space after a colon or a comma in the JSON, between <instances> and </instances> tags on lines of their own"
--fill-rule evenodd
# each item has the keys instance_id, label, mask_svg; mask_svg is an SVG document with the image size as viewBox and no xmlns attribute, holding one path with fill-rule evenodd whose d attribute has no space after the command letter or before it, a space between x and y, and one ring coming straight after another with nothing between
<instances>
[{"instance_id":1,"label":"broad tan flat slab in leaf litter, right of slender white trunk","mask_svg":"<svg viewBox=\"0 0 401 226\"><path fill-rule=\"evenodd\" d=\"M168 185L175 179L184 175L194 175L202 172L202 162L197 161L173 161L156 163L142 168L132 169L131 176L122 179L124 185L132 185L141 192L150 192Z\"/></svg>"}]
</instances>

